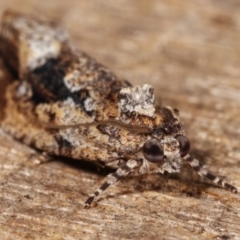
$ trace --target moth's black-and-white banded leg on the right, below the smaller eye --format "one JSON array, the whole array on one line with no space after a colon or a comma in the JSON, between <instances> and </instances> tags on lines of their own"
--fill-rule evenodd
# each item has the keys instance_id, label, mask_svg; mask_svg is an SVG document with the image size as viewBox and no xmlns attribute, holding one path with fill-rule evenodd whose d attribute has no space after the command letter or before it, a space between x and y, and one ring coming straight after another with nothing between
<instances>
[{"instance_id":1,"label":"moth's black-and-white banded leg on the right, below the smaller eye","mask_svg":"<svg viewBox=\"0 0 240 240\"><path fill-rule=\"evenodd\" d=\"M213 175L212 173L210 173L210 172L206 171L204 168L202 168L202 164L196 158L193 158L188 154L184 157L184 159L192 167L192 169L197 172L197 174L200 177L206 177L211 182L213 182L215 184L218 184L219 186L221 186L221 187L223 187L223 188L225 188L225 189L227 189L227 190L229 190L233 193L238 192L237 188L235 188L231 184L225 182L221 178Z\"/></svg>"}]
</instances>

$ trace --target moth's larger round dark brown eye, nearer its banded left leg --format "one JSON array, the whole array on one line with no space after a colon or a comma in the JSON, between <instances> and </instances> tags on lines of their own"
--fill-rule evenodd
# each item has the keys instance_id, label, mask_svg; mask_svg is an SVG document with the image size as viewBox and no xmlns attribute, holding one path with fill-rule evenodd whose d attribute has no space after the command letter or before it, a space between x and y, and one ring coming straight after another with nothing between
<instances>
[{"instance_id":1,"label":"moth's larger round dark brown eye, nearer its banded left leg","mask_svg":"<svg viewBox=\"0 0 240 240\"><path fill-rule=\"evenodd\" d=\"M148 140L143 145L143 155L149 162L160 162L164 158L163 147L156 139Z\"/></svg>"}]
</instances>

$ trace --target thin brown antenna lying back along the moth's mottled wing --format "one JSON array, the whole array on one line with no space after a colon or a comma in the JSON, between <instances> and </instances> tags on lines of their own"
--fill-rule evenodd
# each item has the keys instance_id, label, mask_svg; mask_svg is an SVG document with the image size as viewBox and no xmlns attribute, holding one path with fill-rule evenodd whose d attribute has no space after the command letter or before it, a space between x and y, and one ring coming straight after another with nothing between
<instances>
[{"instance_id":1,"label":"thin brown antenna lying back along the moth's mottled wing","mask_svg":"<svg viewBox=\"0 0 240 240\"><path fill-rule=\"evenodd\" d=\"M123 123L119 120L102 120L102 121L95 121L91 123L76 123L76 124L64 124L64 125L56 125L52 123L45 123L45 122L39 122L39 124L45 128L49 129L66 129L66 128L78 128L78 127L89 127L89 126L98 126L98 125L113 125L117 126L119 128L125 129L129 132L136 132L136 133L142 133L147 134L151 133L152 130L147 127L146 125L131 125Z\"/></svg>"}]
</instances>

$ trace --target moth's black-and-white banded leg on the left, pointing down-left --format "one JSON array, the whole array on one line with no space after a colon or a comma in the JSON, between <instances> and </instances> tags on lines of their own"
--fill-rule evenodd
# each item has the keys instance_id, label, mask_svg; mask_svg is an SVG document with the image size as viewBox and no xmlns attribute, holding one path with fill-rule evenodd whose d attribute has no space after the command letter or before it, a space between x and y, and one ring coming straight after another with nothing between
<instances>
[{"instance_id":1,"label":"moth's black-and-white banded leg on the left, pointing down-left","mask_svg":"<svg viewBox=\"0 0 240 240\"><path fill-rule=\"evenodd\" d=\"M85 208L89 208L90 204L95 201L99 195L105 191L109 186L116 184L122 178L127 176L130 172L132 172L136 167L139 167L139 160L128 160L124 165L119 167L115 173L110 173L107 176L107 180L102 184L100 188L98 188L85 202Z\"/></svg>"}]
</instances>

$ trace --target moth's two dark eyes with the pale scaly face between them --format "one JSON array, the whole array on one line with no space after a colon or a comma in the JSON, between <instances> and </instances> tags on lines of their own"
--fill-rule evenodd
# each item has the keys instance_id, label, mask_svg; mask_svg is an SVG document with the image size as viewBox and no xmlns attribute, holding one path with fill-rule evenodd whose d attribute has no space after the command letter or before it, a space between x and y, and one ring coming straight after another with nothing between
<instances>
[{"instance_id":1,"label":"moth's two dark eyes with the pale scaly face between them","mask_svg":"<svg viewBox=\"0 0 240 240\"><path fill-rule=\"evenodd\" d=\"M162 139L151 138L147 140L142 153L146 160L151 163L163 164L175 158L183 158L190 150L190 143L182 134L165 136Z\"/></svg>"}]
</instances>

